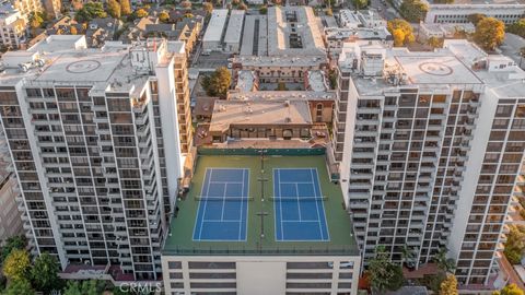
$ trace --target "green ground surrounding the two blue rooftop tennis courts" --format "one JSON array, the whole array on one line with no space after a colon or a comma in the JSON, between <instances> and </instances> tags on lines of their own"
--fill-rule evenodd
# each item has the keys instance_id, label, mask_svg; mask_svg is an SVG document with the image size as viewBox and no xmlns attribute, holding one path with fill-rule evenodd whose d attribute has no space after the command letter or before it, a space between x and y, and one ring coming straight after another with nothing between
<instances>
[{"instance_id":1,"label":"green ground surrounding the two blue rooftop tennis courts","mask_svg":"<svg viewBox=\"0 0 525 295\"><path fill-rule=\"evenodd\" d=\"M330 182L324 155L318 156L265 156L265 174L261 178L260 156L244 155L200 155L185 200L178 201L178 216L172 220L171 236L167 237L164 255L359 255L352 226L343 209L341 189ZM247 239L245 241L194 241L192 233L202 181L207 168L231 167L249 169L249 197ZM317 168L324 201L328 241L277 241L275 234L273 168ZM261 182L265 201L261 200ZM264 217L265 237L260 238L261 219L257 215L266 212Z\"/></svg>"}]
</instances>

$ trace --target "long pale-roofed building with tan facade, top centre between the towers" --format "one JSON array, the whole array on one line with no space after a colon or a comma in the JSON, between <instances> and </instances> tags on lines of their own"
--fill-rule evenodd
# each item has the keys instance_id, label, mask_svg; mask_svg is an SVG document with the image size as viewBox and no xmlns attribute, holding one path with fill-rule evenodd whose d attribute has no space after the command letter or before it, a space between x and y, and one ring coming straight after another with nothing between
<instances>
[{"instance_id":1,"label":"long pale-roofed building with tan facade, top centre between the towers","mask_svg":"<svg viewBox=\"0 0 525 295\"><path fill-rule=\"evenodd\" d=\"M312 8L271 7L268 15L248 15L245 23L234 75L246 70L260 83L304 84L308 71L328 68L323 24Z\"/></svg>"}]
</instances>

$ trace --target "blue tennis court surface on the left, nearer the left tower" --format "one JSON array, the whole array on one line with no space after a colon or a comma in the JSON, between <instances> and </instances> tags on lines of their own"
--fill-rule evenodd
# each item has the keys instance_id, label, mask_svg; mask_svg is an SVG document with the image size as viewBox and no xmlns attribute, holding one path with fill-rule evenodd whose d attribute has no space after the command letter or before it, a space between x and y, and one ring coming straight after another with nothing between
<instances>
[{"instance_id":1,"label":"blue tennis court surface on the left, nearer the left tower","mask_svg":"<svg viewBox=\"0 0 525 295\"><path fill-rule=\"evenodd\" d=\"M208 168L194 227L194 240L245 240L248 169Z\"/></svg>"}]
</instances>

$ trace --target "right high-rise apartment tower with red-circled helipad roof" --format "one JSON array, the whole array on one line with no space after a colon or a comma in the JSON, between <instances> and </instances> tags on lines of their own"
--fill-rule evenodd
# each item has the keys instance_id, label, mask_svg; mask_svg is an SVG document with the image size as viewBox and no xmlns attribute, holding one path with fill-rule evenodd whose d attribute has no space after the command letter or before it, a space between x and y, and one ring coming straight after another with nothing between
<instances>
[{"instance_id":1,"label":"right high-rise apartment tower with red-circled helipad roof","mask_svg":"<svg viewBox=\"0 0 525 295\"><path fill-rule=\"evenodd\" d=\"M525 150L524 72L466 40L432 52L353 43L339 58L334 153L364 263L440 248L460 284L498 269Z\"/></svg>"}]
</instances>

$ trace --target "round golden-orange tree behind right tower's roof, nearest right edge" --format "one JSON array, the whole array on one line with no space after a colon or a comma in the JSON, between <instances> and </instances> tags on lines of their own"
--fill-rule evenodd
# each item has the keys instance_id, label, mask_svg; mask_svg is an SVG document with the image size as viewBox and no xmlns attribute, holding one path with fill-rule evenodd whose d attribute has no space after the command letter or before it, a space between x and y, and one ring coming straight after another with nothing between
<instances>
[{"instance_id":1,"label":"round golden-orange tree behind right tower's roof, nearest right edge","mask_svg":"<svg viewBox=\"0 0 525 295\"><path fill-rule=\"evenodd\" d=\"M474 40L487 51L493 51L505 38L505 24L494 17L479 21L474 33Z\"/></svg>"}]
</instances>

